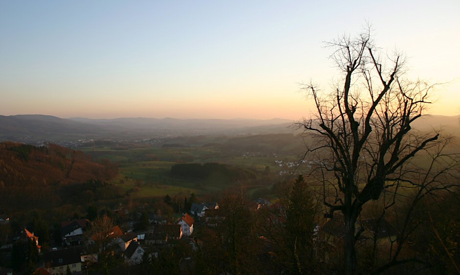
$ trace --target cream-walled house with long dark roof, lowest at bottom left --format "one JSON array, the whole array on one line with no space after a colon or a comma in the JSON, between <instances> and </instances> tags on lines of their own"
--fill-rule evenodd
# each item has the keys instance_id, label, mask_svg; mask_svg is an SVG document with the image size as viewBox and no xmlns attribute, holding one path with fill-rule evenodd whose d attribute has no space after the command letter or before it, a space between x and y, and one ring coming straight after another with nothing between
<instances>
[{"instance_id":1,"label":"cream-walled house with long dark roof, lowest at bottom left","mask_svg":"<svg viewBox=\"0 0 460 275\"><path fill-rule=\"evenodd\" d=\"M63 275L69 269L71 273L81 273L80 250L68 248L46 252L44 268L53 275Z\"/></svg>"}]
</instances>

